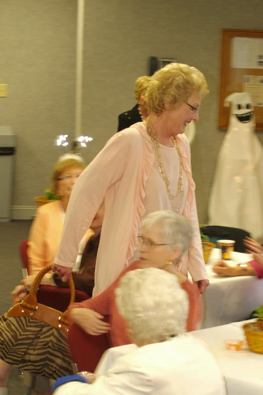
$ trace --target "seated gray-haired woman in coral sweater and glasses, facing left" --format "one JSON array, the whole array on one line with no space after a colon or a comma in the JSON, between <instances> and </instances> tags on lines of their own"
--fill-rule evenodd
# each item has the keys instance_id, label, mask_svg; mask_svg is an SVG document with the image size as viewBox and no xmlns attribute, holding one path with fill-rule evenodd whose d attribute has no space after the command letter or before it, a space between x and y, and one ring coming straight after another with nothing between
<instances>
[{"instance_id":1,"label":"seated gray-haired woman in coral sweater and glasses, facing left","mask_svg":"<svg viewBox=\"0 0 263 395\"><path fill-rule=\"evenodd\" d=\"M140 260L126 267L118 279L100 295L75 303L71 308L72 321L91 335L108 332L109 342L113 347L129 344L130 338L125 331L125 322L118 312L114 291L118 287L119 279L126 272L155 267L166 270L178 278L189 299L187 330L196 329L201 313L199 292L178 271L180 260L189 248L191 238L191 225L183 216L171 210L149 214L142 222L142 233L139 237ZM109 316L109 322L103 321L104 316ZM89 346L87 348L89 349ZM86 354L89 355L88 350Z\"/></svg>"}]
</instances>

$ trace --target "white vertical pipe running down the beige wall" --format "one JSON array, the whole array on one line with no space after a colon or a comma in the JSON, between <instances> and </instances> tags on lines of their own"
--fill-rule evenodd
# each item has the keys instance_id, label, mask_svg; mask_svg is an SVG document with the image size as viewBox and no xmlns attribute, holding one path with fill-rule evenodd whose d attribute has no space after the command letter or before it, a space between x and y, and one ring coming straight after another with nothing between
<instances>
[{"instance_id":1,"label":"white vertical pipe running down the beige wall","mask_svg":"<svg viewBox=\"0 0 263 395\"><path fill-rule=\"evenodd\" d=\"M76 100L75 100L75 139L82 135L82 74L83 74L83 35L85 0L78 0L77 52L76 52Z\"/></svg>"}]
</instances>

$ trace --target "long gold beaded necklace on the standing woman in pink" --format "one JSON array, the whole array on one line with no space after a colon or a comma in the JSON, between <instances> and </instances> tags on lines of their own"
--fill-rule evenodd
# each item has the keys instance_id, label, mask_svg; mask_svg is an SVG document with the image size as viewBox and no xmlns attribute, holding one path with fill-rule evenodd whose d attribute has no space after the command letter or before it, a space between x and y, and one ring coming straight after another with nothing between
<instances>
[{"instance_id":1,"label":"long gold beaded necklace on the standing woman in pink","mask_svg":"<svg viewBox=\"0 0 263 395\"><path fill-rule=\"evenodd\" d=\"M158 159L158 162L159 162L159 170L160 170L161 176L162 176L162 178L163 178L163 180L165 182L165 186L166 186L166 190L167 190L167 193L168 193L168 197L169 197L169 200L171 202L172 210L180 211L181 207L182 207L182 198L183 198L183 179L182 179L182 158L181 158L181 152L179 150L179 147L177 145L177 142L176 142L175 138L172 136L171 139L172 139L172 142L174 143L174 146L176 148L176 151L178 153L178 158L179 158L178 191L177 191L177 194L174 196L174 195L171 194L171 191L170 191L170 181L169 181L169 179L167 177L167 174L166 174L166 171L165 171L165 167L164 167L164 163L163 163L163 157L162 157L162 151L161 151L161 148L160 148L160 145L159 145L159 141L157 140L156 134L154 133L154 130L153 130L153 127L152 127L152 124L151 124L151 121L150 121L150 117L147 118L147 125L148 125L148 128L149 128L149 132L150 132L150 136L151 136L154 148L155 148L156 156L157 156L157 159ZM177 198L178 195L180 196L180 202L179 202L179 207L176 207L176 205L174 204L173 201L174 201L174 199Z\"/></svg>"}]
</instances>

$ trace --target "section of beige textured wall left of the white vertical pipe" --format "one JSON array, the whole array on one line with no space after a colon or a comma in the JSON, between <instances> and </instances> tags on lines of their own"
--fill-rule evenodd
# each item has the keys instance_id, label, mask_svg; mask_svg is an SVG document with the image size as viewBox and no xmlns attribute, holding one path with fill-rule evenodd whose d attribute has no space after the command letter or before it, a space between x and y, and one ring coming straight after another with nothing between
<instances>
[{"instance_id":1,"label":"section of beige textured wall left of the white vertical pipe","mask_svg":"<svg viewBox=\"0 0 263 395\"><path fill-rule=\"evenodd\" d=\"M74 132L77 8L72 0L0 1L0 124L17 134L14 205L49 186L56 135Z\"/></svg>"}]
</instances>

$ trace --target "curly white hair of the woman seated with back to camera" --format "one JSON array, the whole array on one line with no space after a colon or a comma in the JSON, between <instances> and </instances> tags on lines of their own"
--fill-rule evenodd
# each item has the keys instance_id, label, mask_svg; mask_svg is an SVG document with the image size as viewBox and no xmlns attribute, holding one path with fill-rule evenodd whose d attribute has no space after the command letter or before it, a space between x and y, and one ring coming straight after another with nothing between
<instances>
[{"instance_id":1,"label":"curly white hair of the woman seated with back to camera","mask_svg":"<svg viewBox=\"0 0 263 395\"><path fill-rule=\"evenodd\" d=\"M136 341L158 343L185 332L188 295L175 274L153 267L128 271L115 295Z\"/></svg>"}]
</instances>

